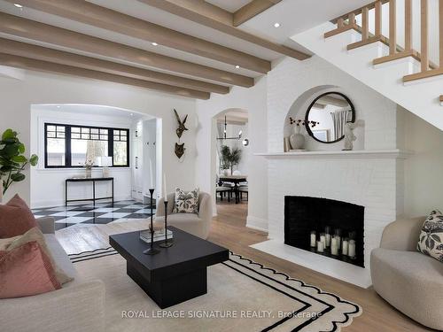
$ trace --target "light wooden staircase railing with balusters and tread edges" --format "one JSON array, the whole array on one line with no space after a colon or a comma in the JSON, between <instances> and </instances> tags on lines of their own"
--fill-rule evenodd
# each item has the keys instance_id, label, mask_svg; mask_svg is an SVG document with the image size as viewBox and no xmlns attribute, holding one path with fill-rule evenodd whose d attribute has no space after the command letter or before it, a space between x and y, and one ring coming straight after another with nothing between
<instances>
[{"instance_id":1,"label":"light wooden staircase railing with balusters and tread edges","mask_svg":"<svg viewBox=\"0 0 443 332\"><path fill-rule=\"evenodd\" d=\"M350 29L354 29L361 33L361 41L347 45L348 50L367 45L372 42L384 42L389 46L389 55L383 58L374 59L374 64L381 64L399 58L413 57L420 61L420 72L409 74L403 77L403 81L415 81L428 77L443 74L443 0L439 0L439 64L433 64L429 58L429 0L420 1L420 35L421 45L420 52L413 49L413 0L405 1L405 25L404 25L404 49L397 44L397 0L377 0L372 4L368 4L353 12L349 12L337 19L333 19L332 23L337 23L337 28L324 34L325 38L332 35L338 35ZM418 1L418 0L414 0ZM389 3L389 38L382 35L382 5ZM369 10L374 9L374 35L369 33ZM361 27L357 25L355 16L361 14ZM345 24L347 19L348 23ZM441 97L440 97L441 98Z\"/></svg>"}]
</instances>

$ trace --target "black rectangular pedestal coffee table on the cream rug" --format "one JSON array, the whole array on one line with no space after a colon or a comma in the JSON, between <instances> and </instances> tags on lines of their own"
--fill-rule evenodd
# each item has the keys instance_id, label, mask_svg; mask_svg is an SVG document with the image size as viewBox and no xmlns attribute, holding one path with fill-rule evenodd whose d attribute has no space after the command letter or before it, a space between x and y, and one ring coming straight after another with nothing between
<instances>
[{"instance_id":1,"label":"black rectangular pedestal coffee table on the cream rug","mask_svg":"<svg viewBox=\"0 0 443 332\"><path fill-rule=\"evenodd\" d=\"M206 267L229 259L228 249L168 228L174 245L153 256L144 255L149 245L140 240L140 232L109 236L109 243L126 259L126 273L161 309L206 294Z\"/></svg>"}]
</instances>

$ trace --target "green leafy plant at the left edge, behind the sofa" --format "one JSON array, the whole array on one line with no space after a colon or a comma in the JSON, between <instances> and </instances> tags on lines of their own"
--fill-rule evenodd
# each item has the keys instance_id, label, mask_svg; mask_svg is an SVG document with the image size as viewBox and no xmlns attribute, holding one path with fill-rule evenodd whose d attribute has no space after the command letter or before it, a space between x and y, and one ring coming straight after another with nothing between
<instances>
[{"instance_id":1,"label":"green leafy plant at the left edge, behind the sofa","mask_svg":"<svg viewBox=\"0 0 443 332\"><path fill-rule=\"evenodd\" d=\"M3 181L3 193L12 185L26 179L22 172L27 164L35 166L38 157L33 154L31 158L26 158L25 144L19 141L18 133L12 129L6 129L0 141L0 181Z\"/></svg>"}]
</instances>

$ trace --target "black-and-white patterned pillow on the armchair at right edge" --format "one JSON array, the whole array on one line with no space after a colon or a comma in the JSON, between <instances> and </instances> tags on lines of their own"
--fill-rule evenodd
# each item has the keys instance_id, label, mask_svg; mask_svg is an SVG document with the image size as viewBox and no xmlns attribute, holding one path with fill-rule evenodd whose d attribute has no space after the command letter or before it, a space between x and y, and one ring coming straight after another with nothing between
<instances>
[{"instance_id":1,"label":"black-and-white patterned pillow on the armchair at right edge","mask_svg":"<svg viewBox=\"0 0 443 332\"><path fill-rule=\"evenodd\" d=\"M432 211L424 220L417 250L443 262L443 214L439 210Z\"/></svg>"}]
</instances>

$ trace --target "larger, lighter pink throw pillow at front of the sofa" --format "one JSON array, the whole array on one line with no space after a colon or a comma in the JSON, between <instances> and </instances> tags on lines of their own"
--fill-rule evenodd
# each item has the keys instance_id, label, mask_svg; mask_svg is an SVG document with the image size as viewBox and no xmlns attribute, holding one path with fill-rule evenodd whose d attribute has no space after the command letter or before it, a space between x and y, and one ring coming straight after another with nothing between
<instances>
[{"instance_id":1,"label":"larger, lighter pink throw pillow at front of the sofa","mask_svg":"<svg viewBox=\"0 0 443 332\"><path fill-rule=\"evenodd\" d=\"M50 259L36 241L0 251L0 298L28 297L60 288Z\"/></svg>"}]
</instances>

